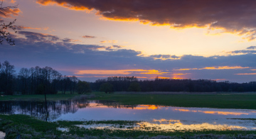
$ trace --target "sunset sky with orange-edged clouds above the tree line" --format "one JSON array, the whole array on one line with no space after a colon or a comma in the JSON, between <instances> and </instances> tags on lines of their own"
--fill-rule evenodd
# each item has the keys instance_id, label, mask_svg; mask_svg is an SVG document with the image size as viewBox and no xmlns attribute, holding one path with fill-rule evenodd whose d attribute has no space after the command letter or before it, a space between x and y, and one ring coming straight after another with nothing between
<instances>
[{"instance_id":1,"label":"sunset sky with orange-edged clouds above the tree line","mask_svg":"<svg viewBox=\"0 0 256 139\"><path fill-rule=\"evenodd\" d=\"M138 79L256 81L253 0L4 0L16 45L0 62L53 67L94 82Z\"/></svg>"}]
</instances>

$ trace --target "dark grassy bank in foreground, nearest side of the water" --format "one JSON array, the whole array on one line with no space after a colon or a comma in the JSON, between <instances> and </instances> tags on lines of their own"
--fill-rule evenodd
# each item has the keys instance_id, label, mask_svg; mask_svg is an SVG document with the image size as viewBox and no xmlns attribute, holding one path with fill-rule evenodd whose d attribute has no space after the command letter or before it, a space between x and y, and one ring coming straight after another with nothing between
<instances>
[{"instance_id":1,"label":"dark grassy bank in foreground, nearest side of the water","mask_svg":"<svg viewBox=\"0 0 256 139\"><path fill-rule=\"evenodd\" d=\"M75 125L88 121L46 122L25 115L0 115L0 130L6 138L256 138L256 131L241 130L202 130L202 131L145 131L145 130L109 130L87 129ZM133 121L100 121L100 123L129 124ZM89 122L90 123L90 122ZM91 124L95 121L91 121ZM68 128L66 132L57 128ZM160 136L161 135L161 136ZM248 136L249 135L249 136Z\"/></svg>"}]
</instances>

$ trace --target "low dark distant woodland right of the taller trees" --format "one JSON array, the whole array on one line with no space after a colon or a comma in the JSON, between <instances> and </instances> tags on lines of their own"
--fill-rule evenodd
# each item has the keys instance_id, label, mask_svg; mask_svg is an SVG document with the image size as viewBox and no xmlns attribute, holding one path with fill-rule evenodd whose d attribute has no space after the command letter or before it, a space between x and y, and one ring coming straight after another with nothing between
<instances>
[{"instance_id":1,"label":"low dark distant woodland right of the taller trees","mask_svg":"<svg viewBox=\"0 0 256 139\"><path fill-rule=\"evenodd\" d=\"M91 83L92 90L105 91L102 84L108 84L112 91L188 91L188 92L213 92L213 91L256 91L256 82L216 82L210 79L159 79L138 80L136 77L108 77L98 79ZM106 85L105 85L106 86ZM104 87L104 88L107 88ZM105 91L106 92L106 91Z\"/></svg>"}]
</instances>

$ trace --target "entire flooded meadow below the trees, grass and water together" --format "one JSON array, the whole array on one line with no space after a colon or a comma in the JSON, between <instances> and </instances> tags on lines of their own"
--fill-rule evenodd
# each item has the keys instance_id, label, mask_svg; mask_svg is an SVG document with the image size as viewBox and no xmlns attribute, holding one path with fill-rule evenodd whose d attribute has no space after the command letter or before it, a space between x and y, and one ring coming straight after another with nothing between
<instances>
[{"instance_id":1,"label":"entire flooded meadow below the trees, grass and water together","mask_svg":"<svg viewBox=\"0 0 256 139\"><path fill-rule=\"evenodd\" d=\"M255 93L51 94L0 97L14 138L255 138Z\"/></svg>"}]
</instances>

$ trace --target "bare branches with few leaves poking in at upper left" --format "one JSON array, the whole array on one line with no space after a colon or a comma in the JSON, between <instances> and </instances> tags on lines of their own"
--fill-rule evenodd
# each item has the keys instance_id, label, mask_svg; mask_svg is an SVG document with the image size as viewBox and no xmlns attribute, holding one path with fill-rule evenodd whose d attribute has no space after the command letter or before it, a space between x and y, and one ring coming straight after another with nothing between
<instances>
[{"instance_id":1,"label":"bare branches with few leaves poking in at upper left","mask_svg":"<svg viewBox=\"0 0 256 139\"><path fill-rule=\"evenodd\" d=\"M16 6L3 6L3 0L0 4L0 14L4 15L5 17L8 17L7 14L10 12L9 9L17 9L18 5ZM0 21L0 44L3 44L4 40L6 40L9 45L15 45L15 40L12 40L11 33L9 32L9 29L16 31L16 26L14 26L16 19L14 21L11 21L9 23L4 23L3 20Z\"/></svg>"}]
</instances>

